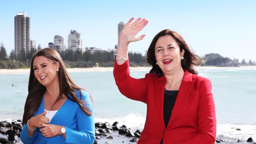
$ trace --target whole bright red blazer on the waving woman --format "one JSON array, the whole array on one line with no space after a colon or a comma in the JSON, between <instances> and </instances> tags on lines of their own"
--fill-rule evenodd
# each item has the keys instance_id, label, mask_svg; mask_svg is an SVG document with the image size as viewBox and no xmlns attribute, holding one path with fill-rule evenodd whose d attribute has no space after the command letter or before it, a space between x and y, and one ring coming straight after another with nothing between
<instances>
[{"instance_id":1,"label":"whole bright red blazer on the waving woman","mask_svg":"<svg viewBox=\"0 0 256 144\"><path fill-rule=\"evenodd\" d=\"M114 66L120 92L147 103L147 118L138 144L214 144L216 117L209 79L184 73L168 126L163 120L165 76L146 74L135 79L129 75L129 60Z\"/></svg>"}]
</instances>

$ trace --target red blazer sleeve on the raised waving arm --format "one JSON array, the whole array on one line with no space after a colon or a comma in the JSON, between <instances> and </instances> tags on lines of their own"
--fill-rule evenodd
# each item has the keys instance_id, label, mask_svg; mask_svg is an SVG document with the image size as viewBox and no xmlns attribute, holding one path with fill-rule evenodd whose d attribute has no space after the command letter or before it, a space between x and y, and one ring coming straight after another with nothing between
<instances>
[{"instance_id":1,"label":"red blazer sleeve on the raised waving arm","mask_svg":"<svg viewBox=\"0 0 256 144\"><path fill-rule=\"evenodd\" d=\"M146 78L132 78L129 70L129 59L122 65L118 65L115 61L113 74L115 83L124 96L147 103L147 74Z\"/></svg>"}]
</instances>

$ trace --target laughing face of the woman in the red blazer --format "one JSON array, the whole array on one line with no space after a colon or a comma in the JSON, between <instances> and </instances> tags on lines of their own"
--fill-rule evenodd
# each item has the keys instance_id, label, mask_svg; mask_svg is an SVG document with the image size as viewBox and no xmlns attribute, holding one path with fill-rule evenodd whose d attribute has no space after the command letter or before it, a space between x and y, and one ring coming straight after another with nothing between
<instances>
[{"instance_id":1,"label":"laughing face of the woman in the red blazer","mask_svg":"<svg viewBox=\"0 0 256 144\"><path fill-rule=\"evenodd\" d=\"M158 66L164 74L176 72L181 68L181 58L184 50L180 52L180 47L171 35L159 37L155 45L155 56Z\"/></svg>"}]
</instances>

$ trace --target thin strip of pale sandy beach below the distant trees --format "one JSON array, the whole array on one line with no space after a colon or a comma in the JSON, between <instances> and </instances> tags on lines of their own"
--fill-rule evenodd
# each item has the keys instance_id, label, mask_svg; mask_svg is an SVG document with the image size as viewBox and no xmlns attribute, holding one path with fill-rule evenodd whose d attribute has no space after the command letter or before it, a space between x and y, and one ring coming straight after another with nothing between
<instances>
[{"instance_id":1,"label":"thin strip of pale sandy beach below the distant trees","mask_svg":"<svg viewBox=\"0 0 256 144\"><path fill-rule=\"evenodd\" d=\"M217 66L195 66L195 69L228 69L228 68L256 68L256 66L239 66L239 67L217 67ZM151 67L130 67L130 70L150 70ZM93 68L67 68L68 72L102 72L113 71L113 67L93 67ZM29 68L19 69L0 69L0 74L29 74Z\"/></svg>"}]
</instances>

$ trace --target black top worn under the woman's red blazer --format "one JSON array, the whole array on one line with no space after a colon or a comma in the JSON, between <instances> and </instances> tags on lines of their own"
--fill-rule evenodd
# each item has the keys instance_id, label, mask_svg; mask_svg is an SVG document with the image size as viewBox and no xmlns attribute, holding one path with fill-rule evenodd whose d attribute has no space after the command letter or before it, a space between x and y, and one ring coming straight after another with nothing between
<instances>
[{"instance_id":1,"label":"black top worn under the woman's red blazer","mask_svg":"<svg viewBox=\"0 0 256 144\"><path fill-rule=\"evenodd\" d=\"M163 97L163 119L165 121L165 127L167 127L171 114L173 111L173 106L176 101L178 90L166 90ZM163 144L163 139L160 144Z\"/></svg>"}]
</instances>

